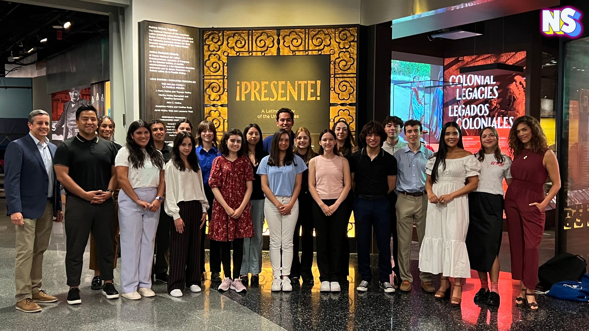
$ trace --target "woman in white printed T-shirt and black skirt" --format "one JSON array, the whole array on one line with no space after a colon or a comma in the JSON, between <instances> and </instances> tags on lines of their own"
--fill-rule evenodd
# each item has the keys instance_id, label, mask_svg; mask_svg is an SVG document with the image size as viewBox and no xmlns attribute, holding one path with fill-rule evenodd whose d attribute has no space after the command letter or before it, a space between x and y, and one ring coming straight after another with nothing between
<instances>
[{"instance_id":1,"label":"woman in white printed T-shirt and black skirt","mask_svg":"<svg viewBox=\"0 0 589 331\"><path fill-rule=\"evenodd\" d=\"M470 222L466 249L471 268L477 270L481 289L475 303L499 305L499 247L503 224L503 179L511 183L511 158L501 153L499 135L494 127L481 131L481 150L475 154L481 162L478 188L468 194ZM489 287L487 273L491 279Z\"/></svg>"}]
</instances>

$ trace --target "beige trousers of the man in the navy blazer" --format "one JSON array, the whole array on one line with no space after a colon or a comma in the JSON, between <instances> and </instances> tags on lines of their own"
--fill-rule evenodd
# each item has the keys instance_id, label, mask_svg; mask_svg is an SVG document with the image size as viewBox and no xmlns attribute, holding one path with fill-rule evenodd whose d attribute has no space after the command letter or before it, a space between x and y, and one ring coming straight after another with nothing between
<instances>
[{"instance_id":1,"label":"beige trousers of the man in the navy blazer","mask_svg":"<svg viewBox=\"0 0 589 331\"><path fill-rule=\"evenodd\" d=\"M40 219L23 219L24 225L16 227L16 259L14 282L16 302L32 299L41 289L43 253L49 245L53 227L53 204L47 200Z\"/></svg>"}]
</instances>

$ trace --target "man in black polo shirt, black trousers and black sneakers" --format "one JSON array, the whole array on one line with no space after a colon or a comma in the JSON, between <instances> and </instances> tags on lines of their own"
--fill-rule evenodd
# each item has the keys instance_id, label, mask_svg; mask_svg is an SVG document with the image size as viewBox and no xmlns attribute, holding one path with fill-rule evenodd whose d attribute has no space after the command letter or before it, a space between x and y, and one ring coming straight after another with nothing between
<instances>
[{"instance_id":1,"label":"man in black polo shirt, black trousers and black sneakers","mask_svg":"<svg viewBox=\"0 0 589 331\"><path fill-rule=\"evenodd\" d=\"M94 237L104 281L102 294L107 299L118 298L112 284L112 249L114 235L114 201L117 188L114 158L117 148L110 141L98 138L97 111L92 105L82 105L75 114L79 133L57 147L53 160L55 174L65 187L65 273L70 286L68 304L81 303L80 277L84 250L90 233Z\"/></svg>"}]
</instances>

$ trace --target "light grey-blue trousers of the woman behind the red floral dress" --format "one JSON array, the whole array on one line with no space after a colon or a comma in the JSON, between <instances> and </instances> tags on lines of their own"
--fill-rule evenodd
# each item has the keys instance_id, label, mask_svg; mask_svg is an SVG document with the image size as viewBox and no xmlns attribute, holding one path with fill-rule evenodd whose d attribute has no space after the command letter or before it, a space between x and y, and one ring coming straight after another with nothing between
<instances>
[{"instance_id":1,"label":"light grey-blue trousers of the woman behind the red floral dress","mask_svg":"<svg viewBox=\"0 0 589 331\"><path fill-rule=\"evenodd\" d=\"M240 274L259 274L262 272L262 244L264 239L264 199L250 200L252 204L252 223L254 236L243 239L243 261Z\"/></svg>"}]
</instances>

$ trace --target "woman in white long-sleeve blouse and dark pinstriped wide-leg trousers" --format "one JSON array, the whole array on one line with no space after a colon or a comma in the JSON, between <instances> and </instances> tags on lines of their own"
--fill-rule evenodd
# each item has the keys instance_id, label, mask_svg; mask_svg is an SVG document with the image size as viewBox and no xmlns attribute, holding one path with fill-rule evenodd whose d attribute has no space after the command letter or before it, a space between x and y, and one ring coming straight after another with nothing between
<instances>
[{"instance_id":1,"label":"woman in white long-sleeve blouse and dark pinstriped wide-leg trousers","mask_svg":"<svg viewBox=\"0 0 589 331\"><path fill-rule=\"evenodd\" d=\"M174 219L170 233L168 293L182 296L184 286L200 292L200 229L207 219L209 202L204 194L203 174L198 166L190 131L174 139L172 157L166 164L166 213Z\"/></svg>"}]
</instances>

